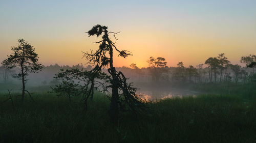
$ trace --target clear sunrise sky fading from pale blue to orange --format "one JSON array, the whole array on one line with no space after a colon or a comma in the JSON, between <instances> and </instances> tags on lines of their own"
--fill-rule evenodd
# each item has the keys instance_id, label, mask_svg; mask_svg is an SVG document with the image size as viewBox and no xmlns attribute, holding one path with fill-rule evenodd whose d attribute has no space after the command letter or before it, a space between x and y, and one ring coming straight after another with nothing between
<instances>
[{"instance_id":1,"label":"clear sunrise sky fading from pale blue to orange","mask_svg":"<svg viewBox=\"0 0 256 143\"><path fill-rule=\"evenodd\" d=\"M239 64L241 56L256 54L255 0L0 0L0 61L24 38L44 65L85 64L81 51L97 49L93 42L100 41L86 34L96 24L120 31L116 46L132 52L115 56L118 67L147 67L150 56L168 66L196 66L219 53Z\"/></svg>"}]
</instances>

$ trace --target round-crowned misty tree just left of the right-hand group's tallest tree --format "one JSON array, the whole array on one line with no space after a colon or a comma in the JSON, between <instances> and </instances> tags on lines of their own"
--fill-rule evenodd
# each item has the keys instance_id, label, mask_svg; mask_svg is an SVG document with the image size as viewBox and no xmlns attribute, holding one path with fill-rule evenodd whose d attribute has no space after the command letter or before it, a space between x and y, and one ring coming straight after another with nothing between
<instances>
[{"instance_id":1,"label":"round-crowned misty tree just left of the right-hand group's tallest tree","mask_svg":"<svg viewBox=\"0 0 256 143\"><path fill-rule=\"evenodd\" d=\"M220 62L217 58L208 58L205 63L206 65L208 65L209 67L209 79L210 79L210 82L212 81L212 72L214 72L214 81L216 82L216 78L217 78L217 69L220 65Z\"/></svg>"}]
</instances>

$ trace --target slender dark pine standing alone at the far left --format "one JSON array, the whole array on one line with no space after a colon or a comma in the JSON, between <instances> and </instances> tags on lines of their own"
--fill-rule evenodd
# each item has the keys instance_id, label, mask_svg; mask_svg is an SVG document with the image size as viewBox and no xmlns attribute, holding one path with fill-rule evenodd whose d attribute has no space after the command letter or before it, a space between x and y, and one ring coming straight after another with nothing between
<instances>
[{"instance_id":1,"label":"slender dark pine standing alone at the far left","mask_svg":"<svg viewBox=\"0 0 256 143\"><path fill-rule=\"evenodd\" d=\"M8 69L15 67L19 68L18 74L13 74L14 78L22 80L22 102L25 96L25 83L29 72L37 72L44 68L38 63L38 55L35 53L35 48L24 39L18 39L18 46L12 47L13 54L8 55L8 58L2 62ZM28 92L28 91L27 91Z\"/></svg>"}]
</instances>

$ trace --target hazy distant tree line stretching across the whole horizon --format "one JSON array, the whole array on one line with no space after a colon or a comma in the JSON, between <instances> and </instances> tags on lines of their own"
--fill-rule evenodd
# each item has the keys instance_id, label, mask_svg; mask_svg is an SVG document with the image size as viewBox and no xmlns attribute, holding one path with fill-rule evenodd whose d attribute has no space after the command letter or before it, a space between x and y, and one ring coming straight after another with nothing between
<instances>
[{"instance_id":1,"label":"hazy distant tree line stretching across the whole horizon","mask_svg":"<svg viewBox=\"0 0 256 143\"><path fill-rule=\"evenodd\" d=\"M197 66L188 67L184 66L183 62L178 62L177 67L167 67L165 58L150 57L146 62L148 67L139 68L135 63L132 63L130 67L116 67L116 69L122 71L125 75L129 76L133 82L193 82L193 83L251 83L255 81L255 66L256 56L249 54L242 56L240 59L241 64L245 64L244 67L238 64L231 64L226 58L225 53L218 54L216 57L210 57L205 60L204 63ZM40 71L41 85L54 85L60 83L59 79L53 78L56 73L61 69L84 69L92 70L91 65L77 64L74 66L60 66L58 64L45 66L45 69ZM0 81L2 83L8 83L11 75L16 73L17 69L7 69L4 66L0 67ZM107 73L105 69L103 72ZM31 75L34 75L31 73ZM31 79L33 81L33 79Z\"/></svg>"}]
</instances>

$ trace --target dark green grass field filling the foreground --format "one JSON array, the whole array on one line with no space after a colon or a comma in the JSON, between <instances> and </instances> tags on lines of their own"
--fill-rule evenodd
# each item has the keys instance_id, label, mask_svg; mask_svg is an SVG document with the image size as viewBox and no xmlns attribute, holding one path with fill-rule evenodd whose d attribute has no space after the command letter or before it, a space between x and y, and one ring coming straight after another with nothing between
<instances>
[{"instance_id":1,"label":"dark green grass field filling the foreground","mask_svg":"<svg viewBox=\"0 0 256 143\"><path fill-rule=\"evenodd\" d=\"M2 102L0 142L256 142L256 96L201 95L164 99L148 111L120 113L110 122L109 100L98 93L88 110L78 98L33 93Z\"/></svg>"}]
</instances>

